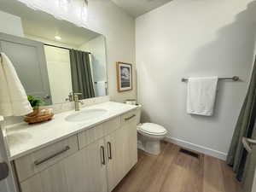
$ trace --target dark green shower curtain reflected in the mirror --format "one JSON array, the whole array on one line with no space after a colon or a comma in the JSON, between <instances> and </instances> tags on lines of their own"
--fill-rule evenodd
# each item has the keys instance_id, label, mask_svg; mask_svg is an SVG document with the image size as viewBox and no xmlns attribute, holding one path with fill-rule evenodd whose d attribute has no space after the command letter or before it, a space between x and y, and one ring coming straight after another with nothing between
<instances>
[{"instance_id":1,"label":"dark green shower curtain reflected in the mirror","mask_svg":"<svg viewBox=\"0 0 256 192\"><path fill-rule=\"evenodd\" d=\"M70 49L69 55L73 92L82 93L81 99L95 97L89 53Z\"/></svg>"}]
</instances>

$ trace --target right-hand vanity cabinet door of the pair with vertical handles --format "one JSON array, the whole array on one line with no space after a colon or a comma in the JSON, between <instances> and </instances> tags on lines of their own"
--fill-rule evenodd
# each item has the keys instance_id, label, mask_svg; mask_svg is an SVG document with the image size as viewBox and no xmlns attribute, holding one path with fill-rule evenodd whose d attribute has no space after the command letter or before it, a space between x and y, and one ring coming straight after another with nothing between
<instances>
[{"instance_id":1,"label":"right-hand vanity cabinet door of the pair with vertical handles","mask_svg":"<svg viewBox=\"0 0 256 192\"><path fill-rule=\"evenodd\" d=\"M112 191L125 176L124 130L113 131L105 138L108 157L108 191Z\"/></svg>"}]
</instances>

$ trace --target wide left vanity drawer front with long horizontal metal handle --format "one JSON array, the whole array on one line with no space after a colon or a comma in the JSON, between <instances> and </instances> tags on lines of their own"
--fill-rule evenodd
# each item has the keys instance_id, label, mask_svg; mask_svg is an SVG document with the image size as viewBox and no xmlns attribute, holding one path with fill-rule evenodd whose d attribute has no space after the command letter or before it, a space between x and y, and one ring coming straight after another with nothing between
<instances>
[{"instance_id":1,"label":"wide left vanity drawer front with long horizontal metal handle","mask_svg":"<svg viewBox=\"0 0 256 192\"><path fill-rule=\"evenodd\" d=\"M19 181L22 182L26 178L32 177L32 175L43 171L47 167L54 165L57 161L77 151L79 151L78 137L72 136L61 142L39 149L32 154L20 157L15 160Z\"/></svg>"}]
</instances>

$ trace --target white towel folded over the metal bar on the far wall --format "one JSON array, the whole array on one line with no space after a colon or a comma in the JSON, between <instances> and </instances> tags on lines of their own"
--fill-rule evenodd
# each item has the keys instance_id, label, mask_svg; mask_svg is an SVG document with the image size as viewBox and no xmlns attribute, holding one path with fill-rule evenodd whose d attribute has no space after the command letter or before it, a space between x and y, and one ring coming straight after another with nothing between
<instances>
[{"instance_id":1,"label":"white towel folded over the metal bar on the far wall","mask_svg":"<svg viewBox=\"0 0 256 192\"><path fill-rule=\"evenodd\" d=\"M212 116L218 77L189 78L187 113Z\"/></svg>"}]
</instances>

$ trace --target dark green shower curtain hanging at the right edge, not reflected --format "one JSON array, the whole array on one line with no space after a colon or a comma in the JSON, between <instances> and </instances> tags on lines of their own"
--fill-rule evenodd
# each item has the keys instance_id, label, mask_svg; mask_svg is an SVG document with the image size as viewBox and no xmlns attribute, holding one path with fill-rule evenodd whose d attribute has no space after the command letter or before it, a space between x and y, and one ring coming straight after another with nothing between
<instances>
[{"instance_id":1,"label":"dark green shower curtain hanging at the right edge, not reflected","mask_svg":"<svg viewBox=\"0 0 256 192\"><path fill-rule=\"evenodd\" d=\"M247 96L242 105L240 115L236 122L236 129L230 145L227 163L233 166L238 180L242 181L244 192L251 192L256 166L256 147L253 146L251 154L247 154L241 143L242 137L256 139L256 61Z\"/></svg>"}]
</instances>

